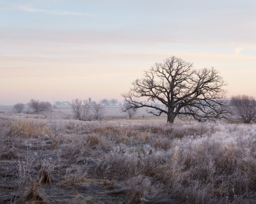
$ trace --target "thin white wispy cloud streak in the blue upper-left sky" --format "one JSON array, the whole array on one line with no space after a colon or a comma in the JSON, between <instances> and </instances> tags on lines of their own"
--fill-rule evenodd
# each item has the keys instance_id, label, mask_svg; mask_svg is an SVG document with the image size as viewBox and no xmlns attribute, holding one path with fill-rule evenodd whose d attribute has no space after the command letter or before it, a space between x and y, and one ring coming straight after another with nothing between
<instances>
[{"instance_id":1,"label":"thin white wispy cloud streak in the blue upper-left sky","mask_svg":"<svg viewBox=\"0 0 256 204\"><path fill-rule=\"evenodd\" d=\"M92 13L51 10L51 9L33 8L29 6L17 6L16 9L20 11L29 12L29 13L44 13L44 14L52 14L52 15L75 15L75 16L92 16L93 15Z\"/></svg>"}]
</instances>

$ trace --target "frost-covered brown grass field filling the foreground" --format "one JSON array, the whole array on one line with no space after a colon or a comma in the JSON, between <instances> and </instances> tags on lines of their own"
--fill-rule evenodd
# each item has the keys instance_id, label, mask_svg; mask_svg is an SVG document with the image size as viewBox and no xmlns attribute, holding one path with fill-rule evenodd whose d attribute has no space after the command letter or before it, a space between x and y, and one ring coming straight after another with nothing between
<instances>
[{"instance_id":1,"label":"frost-covered brown grass field filling the foreground","mask_svg":"<svg viewBox=\"0 0 256 204\"><path fill-rule=\"evenodd\" d=\"M255 203L256 125L0 119L0 203Z\"/></svg>"}]
</instances>

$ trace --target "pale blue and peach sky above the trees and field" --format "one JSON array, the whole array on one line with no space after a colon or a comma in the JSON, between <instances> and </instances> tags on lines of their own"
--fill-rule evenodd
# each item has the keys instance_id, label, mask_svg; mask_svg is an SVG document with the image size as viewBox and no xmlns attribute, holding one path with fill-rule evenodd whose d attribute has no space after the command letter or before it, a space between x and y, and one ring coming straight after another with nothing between
<instances>
[{"instance_id":1,"label":"pale blue and peach sky above the trees and field","mask_svg":"<svg viewBox=\"0 0 256 204\"><path fill-rule=\"evenodd\" d=\"M255 1L0 1L0 104L117 98L170 55L256 96Z\"/></svg>"}]
</instances>

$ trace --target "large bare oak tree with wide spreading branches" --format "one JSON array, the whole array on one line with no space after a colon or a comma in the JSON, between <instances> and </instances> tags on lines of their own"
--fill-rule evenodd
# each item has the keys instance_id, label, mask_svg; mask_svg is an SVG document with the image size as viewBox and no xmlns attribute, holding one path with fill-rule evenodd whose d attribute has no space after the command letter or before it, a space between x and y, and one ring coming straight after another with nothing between
<instances>
[{"instance_id":1,"label":"large bare oak tree with wide spreading branches","mask_svg":"<svg viewBox=\"0 0 256 204\"><path fill-rule=\"evenodd\" d=\"M226 111L225 83L216 69L193 69L193 64L177 57L156 63L144 78L136 79L123 94L131 108L146 107L148 113L196 120L220 119Z\"/></svg>"}]
</instances>

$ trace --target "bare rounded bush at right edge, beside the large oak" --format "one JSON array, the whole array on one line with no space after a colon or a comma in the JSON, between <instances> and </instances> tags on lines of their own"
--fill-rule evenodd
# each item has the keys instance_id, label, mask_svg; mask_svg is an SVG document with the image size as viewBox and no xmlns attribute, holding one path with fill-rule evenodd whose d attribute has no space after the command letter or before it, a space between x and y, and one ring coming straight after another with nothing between
<instances>
[{"instance_id":1,"label":"bare rounded bush at right edge, beside the large oak","mask_svg":"<svg viewBox=\"0 0 256 204\"><path fill-rule=\"evenodd\" d=\"M230 105L233 106L233 113L244 123L250 124L256 120L256 101L252 96L232 96Z\"/></svg>"}]
</instances>

